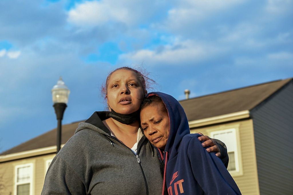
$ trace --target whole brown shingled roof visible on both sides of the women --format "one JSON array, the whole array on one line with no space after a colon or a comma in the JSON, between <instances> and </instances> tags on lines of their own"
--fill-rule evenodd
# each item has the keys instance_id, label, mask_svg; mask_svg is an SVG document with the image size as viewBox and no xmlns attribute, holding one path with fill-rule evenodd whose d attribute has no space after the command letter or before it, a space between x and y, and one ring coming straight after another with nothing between
<instances>
[{"instance_id":1,"label":"whole brown shingled roof visible on both sides of the women","mask_svg":"<svg viewBox=\"0 0 293 195\"><path fill-rule=\"evenodd\" d=\"M180 104L183 106L189 121L251 110L290 81L292 81L292 78L253 85L231 91L182 100L180 101ZM74 134L79 122L62 125L62 144L65 144ZM4 151L0 155L54 145L56 145L56 129Z\"/></svg>"}]
</instances>

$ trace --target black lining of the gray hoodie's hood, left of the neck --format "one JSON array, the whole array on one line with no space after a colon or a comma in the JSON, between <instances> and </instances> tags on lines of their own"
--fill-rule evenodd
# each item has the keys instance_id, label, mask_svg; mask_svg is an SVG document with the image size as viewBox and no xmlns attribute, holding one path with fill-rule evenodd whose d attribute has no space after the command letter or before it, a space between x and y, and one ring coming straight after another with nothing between
<instances>
[{"instance_id":1,"label":"black lining of the gray hoodie's hood, left of the neck","mask_svg":"<svg viewBox=\"0 0 293 195\"><path fill-rule=\"evenodd\" d=\"M85 122L100 128L101 130L103 130L111 136L110 130L102 122L102 120L106 120L109 118L109 113L109 111L96 111Z\"/></svg>"}]
</instances>

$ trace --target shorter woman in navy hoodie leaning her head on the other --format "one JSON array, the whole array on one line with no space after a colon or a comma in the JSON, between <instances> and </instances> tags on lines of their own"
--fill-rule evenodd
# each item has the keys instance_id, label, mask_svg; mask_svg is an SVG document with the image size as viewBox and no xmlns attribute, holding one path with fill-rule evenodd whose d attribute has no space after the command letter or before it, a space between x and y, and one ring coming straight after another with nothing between
<instances>
[{"instance_id":1,"label":"shorter woman in navy hoodie leaning her head on the other","mask_svg":"<svg viewBox=\"0 0 293 195\"><path fill-rule=\"evenodd\" d=\"M178 194L241 194L215 153L208 153L190 134L179 102L168 94L151 92L140 112L144 135L161 154L163 192Z\"/></svg>"}]
</instances>

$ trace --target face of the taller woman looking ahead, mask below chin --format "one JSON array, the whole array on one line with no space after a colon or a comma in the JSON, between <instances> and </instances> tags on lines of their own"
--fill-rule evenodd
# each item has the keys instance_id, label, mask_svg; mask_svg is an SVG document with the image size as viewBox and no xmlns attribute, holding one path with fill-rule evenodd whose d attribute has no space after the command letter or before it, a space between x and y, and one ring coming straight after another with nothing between
<instances>
[{"instance_id":1,"label":"face of the taller woman looking ahead, mask below chin","mask_svg":"<svg viewBox=\"0 0 293 195\"><path fill-rule=\"evenodd\" d=\"M117 113L137 111L144 98L144 90L137 74L131 70L117 70L109 78L107 101Z\"/></svg>"}]
</instances>

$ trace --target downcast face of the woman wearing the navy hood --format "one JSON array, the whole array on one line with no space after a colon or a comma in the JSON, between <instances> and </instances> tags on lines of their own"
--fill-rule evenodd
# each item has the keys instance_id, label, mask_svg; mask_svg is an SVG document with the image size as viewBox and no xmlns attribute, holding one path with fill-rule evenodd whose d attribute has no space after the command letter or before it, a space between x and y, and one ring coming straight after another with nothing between
<instances>
[{"instance_id":1,"label":"downcast face of the woman wearing the navy hood","mask_svg":"<svg viewBox=\"0 0 293 195\"><path fill-rule=\"evenodd\" d=\"M147 106L140 111L140 121L144 135L159 149L165 149L170 132L168 113L160 106Z\"/></svg>"}]
</instances>

